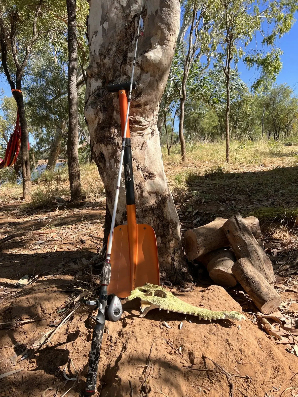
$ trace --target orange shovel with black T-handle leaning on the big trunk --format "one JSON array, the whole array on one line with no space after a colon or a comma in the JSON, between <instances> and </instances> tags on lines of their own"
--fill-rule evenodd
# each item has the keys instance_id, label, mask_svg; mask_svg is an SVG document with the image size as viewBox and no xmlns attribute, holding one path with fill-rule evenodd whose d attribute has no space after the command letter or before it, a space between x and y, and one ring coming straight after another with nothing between
<instances>
[{"instance_id":1,"label":"orange shovel with black T-handle leaning on the big trunk","mask_svg":"<svg viewBox=\"0 0 298 397\"><path fill-rule=\"evenodd\" d=\"M126 90L130 83L109 85L109 92L117 92L120 103L122 138L128 100ZM126 186L127 225L114 228L112 252L110 256L111 280L108 294L126 298L136 287L145 283L159 285L159 263L157 242L153 228L137 224L135 215L134 175L132 171L132 147L130 144L129 123L126 130L124 148L124 176ZM110 236L109 236L110 237Z\"/></svg>"}]
</instances>

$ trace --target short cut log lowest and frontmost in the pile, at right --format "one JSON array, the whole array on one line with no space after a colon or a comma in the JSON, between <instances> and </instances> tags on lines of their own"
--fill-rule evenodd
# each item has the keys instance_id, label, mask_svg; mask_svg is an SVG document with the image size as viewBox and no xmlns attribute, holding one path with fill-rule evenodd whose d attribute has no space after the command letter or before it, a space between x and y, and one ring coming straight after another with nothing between
<instances>
[{"instance_id":1,"label":"short cut log lowest and frontmost in the pile, at right","mask_svg":"<svg viewBox=\"0 0 298 397\"><path fill-rule=\"evenodd\" d=\"M232 273L262 313L269 314L277 310L281 297L250 259L238 259L232 266Z\"/></svg>"}]
</instances>

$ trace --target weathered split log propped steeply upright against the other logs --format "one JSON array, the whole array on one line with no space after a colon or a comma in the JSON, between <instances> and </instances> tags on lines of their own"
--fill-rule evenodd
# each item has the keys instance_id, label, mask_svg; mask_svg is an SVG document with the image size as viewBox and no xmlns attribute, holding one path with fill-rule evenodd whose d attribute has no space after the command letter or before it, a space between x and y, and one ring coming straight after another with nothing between
<instances>
[{"instance_id":1,"label":"weathered split log propped steeply upright against the other logs","mask_svg":"<svg viewBox=\"0 0 298 397\"><path fill-rule=\"evenodd\" d=\"M276 281L271 260L261 249L239 212L223 225L237 259L249 258L269 283Z\"/></svg>"}]
</instances>

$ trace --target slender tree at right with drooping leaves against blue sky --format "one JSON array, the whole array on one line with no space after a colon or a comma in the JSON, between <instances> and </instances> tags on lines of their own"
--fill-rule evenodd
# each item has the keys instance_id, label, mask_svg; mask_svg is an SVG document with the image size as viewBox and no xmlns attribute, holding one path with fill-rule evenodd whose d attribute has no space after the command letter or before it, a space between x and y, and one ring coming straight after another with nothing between
<instances>
[{"instance_id":1,"label":"slender tree at right with drooping leaves against blue sky","mask_svg":"<svg viewBox=\"0 0 298 397\"><path fill-rule=\"evenodd\" d=\"M288 32L295 19L298 9L296 0L277 2L275 0L220 0L219 15L221 15L220 30L223 34L222 52L219 56L226 76L226 161L230 161L229 153L229 112L230 112L230 71L232 61L240 58L249 67L255 66L259 78L254 83L257 89L263 84L264 78L275 80L281 71L281 50L276 41ZM257 33L263 37L262 48L246 48L251 44Z\"/></svg>"}]
</instances>

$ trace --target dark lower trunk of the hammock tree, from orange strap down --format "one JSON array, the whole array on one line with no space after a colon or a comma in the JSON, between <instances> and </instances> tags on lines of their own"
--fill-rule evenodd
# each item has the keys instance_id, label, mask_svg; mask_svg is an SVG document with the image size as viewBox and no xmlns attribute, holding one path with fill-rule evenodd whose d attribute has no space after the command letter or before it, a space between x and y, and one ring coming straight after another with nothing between
<instances>
[{"instance_id":1,"label":"dark lower trunk of the hammock tree, from orange strap down","mask_svg":"<svg viewBox=\"0 0 298 397\"><path fill-rule=\"evenodd\" d=\"M17 81L17 89L21 89L21 82ZM23 199L28 201L31 199L31 170L29 160L29 136L27 128L27 120L25 116L25 108L23 102L23 94L18 91L14 91L14 98L17 102L17 109L19 112L19 121L21 125L21 168L23 178Z\"/></svg>"}]
</instances>

